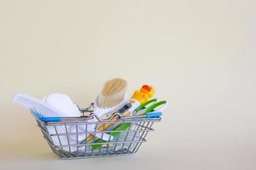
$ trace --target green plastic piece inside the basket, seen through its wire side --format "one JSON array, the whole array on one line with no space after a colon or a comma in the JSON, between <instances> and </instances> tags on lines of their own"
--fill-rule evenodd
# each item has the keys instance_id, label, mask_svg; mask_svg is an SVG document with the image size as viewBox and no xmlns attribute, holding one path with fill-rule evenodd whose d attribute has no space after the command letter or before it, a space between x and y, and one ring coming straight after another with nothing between
<instances>
[{"instance_id":1,"label":"green plastic piece inside the basket, seen through its wire side","mask_svg":"<svg viewBox=\"0 0 256 170\"><path fill-rule=\"evenodd\" d=\"M125 131L128 128L131 127L131 122L124 122L122 124L119 124L117 127L113 127L113 131ZM109 133L110 135L112 135L113 137L116 137L119 135L120 132L113 132L113 133ZM96 139L95 143L106 143L106 140L102 140L102 139ZM92 144L91 148L93 150L99 149L102 147L102 144Z\"/></svg>"}]
</instances>

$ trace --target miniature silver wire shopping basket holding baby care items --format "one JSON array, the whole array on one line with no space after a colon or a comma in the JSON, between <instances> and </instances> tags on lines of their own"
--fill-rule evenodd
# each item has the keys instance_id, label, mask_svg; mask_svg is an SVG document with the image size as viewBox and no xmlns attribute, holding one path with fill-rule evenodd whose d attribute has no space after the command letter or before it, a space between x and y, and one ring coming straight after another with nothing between
<instances>
[{"instance_id":1,"label":"miniature silver wire shopping basket holding baby care items","mask_svg":"<svg viewBox=\"0 0 256 170\"><path fill-rule=\"evenodd\" d=\"M154 131L154 122L160 122L160 117L145 116L119 117L113 122L110 118L100 119L90 108L80 110L83 113L89 112L88 116L62 118L58 122L43 122L36 117L49 147L61 159L135 154L141 144L147 141L148 132ZM91 121L95 118L96 122ZM105 125L108 129L96 130Z\"/></svg>"}]
</instances>

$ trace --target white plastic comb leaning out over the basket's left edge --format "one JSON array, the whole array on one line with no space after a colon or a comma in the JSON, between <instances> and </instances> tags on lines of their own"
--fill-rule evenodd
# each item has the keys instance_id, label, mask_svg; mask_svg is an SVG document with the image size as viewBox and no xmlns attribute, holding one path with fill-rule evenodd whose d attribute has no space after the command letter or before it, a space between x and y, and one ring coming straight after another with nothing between
<instances>
[{"instance_id":1,"label":"white plastic comb leaning out over the basket's left edge","mask_svg":"<svg viewBox=\"0 0 256 170\"><path fill-rule=\"evenodd\" d=\"M51 105L27 94L15 94L14 102L26 107L26 109L34 113L38 113L40 116L43 117L61 116L61 111L58 111Z\"/></svg>"}]
</instances>

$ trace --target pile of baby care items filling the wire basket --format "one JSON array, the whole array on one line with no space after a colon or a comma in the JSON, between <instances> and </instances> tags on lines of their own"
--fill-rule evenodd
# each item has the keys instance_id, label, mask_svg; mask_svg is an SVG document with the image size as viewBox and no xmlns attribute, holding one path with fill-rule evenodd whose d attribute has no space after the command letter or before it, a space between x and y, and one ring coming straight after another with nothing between
<instances>
[{"instance_id":1,"label":"pile of baby care items filling the wire basket","mask_svg":"<svg viewBox=\"0 0 256 170\"><path fill-rule=\"evenodd\" d=\"M86 120L86 126L83 124L54 126L50 123L46 126L49 134L68 133L68 135L52 135L50 138L56 146L68 145L67 147L62 147L62 150L73 152L84 150L84 146L70 147L72 144L84 144L92 141L96 143L97 141L112 141L116 139L115 135L104 133L109 128L124 130L118 127L118 124L116 127L113 127L113 123L96 126L96 123L93 122L100 122L106 119L114 122L121 118L160 117L163 109L166 108L166 100L153 98L154 88L152 86L143 85L140 89L135 90L131 97L126 93L126 90L127 82L122 78L114 78L105 82L102 92L92 103L93 110L90 111L89 115L84 115L83 109L79 108L73 102L73 99L70 99L66 94L49 94L44 99L37 99L27 94L15 94L14 102L25 106L41 122L62 122L67 119L73 120L83 117L85 120L86 117L90 117L89 120ZM123 126L122 128L125 127ZM125 137L125 135L119 133L119 139L122 138L127 138L127 136ZM90 150L96 150L99 148L97 146L101 145L92 145ZM120 146L117 144L116 147ZM125 147L124 144L122 145L123 147Z\"/></svg>"}]
</instances>

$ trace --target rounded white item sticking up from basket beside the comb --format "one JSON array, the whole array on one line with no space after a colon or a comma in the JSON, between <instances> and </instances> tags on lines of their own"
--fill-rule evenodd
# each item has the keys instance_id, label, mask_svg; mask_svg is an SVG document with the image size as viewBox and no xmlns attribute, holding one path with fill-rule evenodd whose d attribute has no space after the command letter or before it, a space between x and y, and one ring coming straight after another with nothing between
<instances>
[{"instance_id":1,"label":"rounded white item sticking up from basket beside the comb","mask_svg":"<svg viewBox=\"0 0 256 170\"><path fill-rule=\"evenodd\" d=\"M61 111L61 116L81 116L77 105L66 94L49 94L43 100Z\"/></svg>"}]
</instances>

